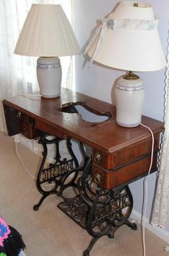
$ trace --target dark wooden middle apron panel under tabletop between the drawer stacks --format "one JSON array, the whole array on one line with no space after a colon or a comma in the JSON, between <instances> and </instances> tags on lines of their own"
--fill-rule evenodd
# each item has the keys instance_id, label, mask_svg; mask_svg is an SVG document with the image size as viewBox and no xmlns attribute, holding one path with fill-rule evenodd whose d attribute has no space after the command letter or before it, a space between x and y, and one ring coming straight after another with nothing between
<instances>
[{"instance_id":1,"label":"dark wooden middle apron panel under tabletop between the drawer stacks","mask_svg":"<svg viewBox=\"0 0 169 256\"><path fill-rule=\"evenodd\" d=\"M50 123L47 124L46 122L42 122L42 120L36 120L35 126L39 130L48 132L48 134L58 136L60 138L67 138L67 134L63 133L61 130L58 130L57 128L53 128L53 125L50 125Z\"/></svg>"}]
</instances>

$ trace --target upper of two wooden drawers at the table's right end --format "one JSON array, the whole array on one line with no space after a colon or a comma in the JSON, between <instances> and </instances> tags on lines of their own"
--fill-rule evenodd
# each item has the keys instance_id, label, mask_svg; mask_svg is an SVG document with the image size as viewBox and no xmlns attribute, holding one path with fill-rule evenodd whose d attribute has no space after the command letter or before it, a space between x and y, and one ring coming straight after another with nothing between
<instances>
[{"instance_id":1,"label":"upper of two wooden drawers at the table's right end","mask_svg":"<svg viewBox=\"0 0 169 256\"><path fill-rule=\"evenodd\" d=\"M152 138L147 138L141 142L137 142L126 148L120 149L114 153L100 153L96 149L93 150L92 159L94 163L100 165L100 167L110 170L119 165L123 165L128 161L132 161L151 153ZM154 150L159 147L159 133L154 134Z\"/></svg>"}]
</instances>

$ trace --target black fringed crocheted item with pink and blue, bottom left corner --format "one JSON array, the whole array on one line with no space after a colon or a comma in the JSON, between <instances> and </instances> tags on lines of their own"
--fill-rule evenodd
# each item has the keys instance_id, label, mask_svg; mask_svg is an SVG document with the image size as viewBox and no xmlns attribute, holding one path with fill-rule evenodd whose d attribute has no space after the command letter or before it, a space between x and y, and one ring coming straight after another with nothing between
<instances>
[{"instance_id":1,"label":"black fringed crocheted item with pink and blue, bottom left corner","mask_svg":"<svg viewBox=\"0 0 169 256\"><path fill-rule=\"evenodd\" d=\"M22 235L0 217L0 256L18 256L25 248Z\"/></svg>"}]
</instances>

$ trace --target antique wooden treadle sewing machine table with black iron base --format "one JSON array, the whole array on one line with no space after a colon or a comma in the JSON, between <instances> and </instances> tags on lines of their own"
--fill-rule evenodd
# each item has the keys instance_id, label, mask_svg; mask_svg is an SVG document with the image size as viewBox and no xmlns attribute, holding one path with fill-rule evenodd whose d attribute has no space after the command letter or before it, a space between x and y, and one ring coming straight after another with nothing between
<instances>
[{"instance_id":1,"label":"antique wooden treadle sewing machine table with black iron base","mask_svg":"<svg viewBox=\"0 0 169 256\"><path fill-rule=\"evenodd\" d=\"M87 122L79 114L79 106L107 120ZM59 209L92 235L83 255L89 255L103 235L113 238L123 224L137 229L128 220L133 208L128 184L149 171L152 138L147 128L118 126L115 107L67 89L56 99L33 95L11 97L3 101L3 107L9 136L22 133L26 138L37 139L44 150L37 177L42 198L34 210L50 194L61 196L63 202L59 203ZM142 122L154 135L152 173L156 171L160 132L164 126L147 116L142 117ZM73 152L72 139L79 142L83 164L79 164ZM61 155L61 142L65 143L69 157ZM55 146L55 157L46 167L50 144ZM84 144L92 148L91 157ZM75 188L74 198L67 198L63 193L69 187Z\"/></svg>"}]
</instances>

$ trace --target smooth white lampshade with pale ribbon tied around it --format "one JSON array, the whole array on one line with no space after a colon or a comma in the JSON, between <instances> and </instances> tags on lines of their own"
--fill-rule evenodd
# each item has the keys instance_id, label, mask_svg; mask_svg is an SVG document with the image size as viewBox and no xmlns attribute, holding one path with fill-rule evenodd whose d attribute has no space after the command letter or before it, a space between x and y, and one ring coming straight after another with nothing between
<instances>
[{"instance_id":1,"label":"smooth white lampshade with pale ribbon tied around it","mask_svg":"<svg viewBox=\"0 0 169 256\"><path fill-rule=\"evenodd\" d=\"M154 71L165 67L166 60L157 26L154 26L157 21L151 5L123 1L108 19L116 23L114 29L108 28L99 45L98 34L88 50L88 55L92 56L97 48L96 62L129 71Z\"/></svg>"}]
</instances>

